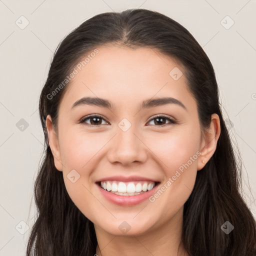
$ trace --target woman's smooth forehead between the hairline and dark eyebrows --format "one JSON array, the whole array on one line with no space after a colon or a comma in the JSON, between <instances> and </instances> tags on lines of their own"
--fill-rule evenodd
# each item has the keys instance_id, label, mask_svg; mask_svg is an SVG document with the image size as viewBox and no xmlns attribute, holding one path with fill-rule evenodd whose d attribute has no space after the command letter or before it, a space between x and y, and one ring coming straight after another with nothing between
<instances>
[{"instance_id":1,"label":"woman's smooth forehead between the hairline and dark eyebrows","mask_svg":"<svg viewBox=\"0 0 256 256\"><path fill-rule=\"evenodd\" d=\"M82 96L125 100L127 104L167 94L182 101L192 100L183 67L157 49L104 45L97 50L80 70L76 68L78 72L69 82L62 99L69 108Z\"/></svg>"}]
</instances>

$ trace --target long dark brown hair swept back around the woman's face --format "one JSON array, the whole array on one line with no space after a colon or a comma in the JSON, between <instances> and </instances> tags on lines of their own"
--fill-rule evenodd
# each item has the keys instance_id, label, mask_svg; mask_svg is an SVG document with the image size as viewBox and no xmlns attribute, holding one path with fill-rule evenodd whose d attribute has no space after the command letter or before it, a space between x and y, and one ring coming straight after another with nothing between
<instances>
[{"instance_id":1,"label":"long dark brown hair swept back around the woman's face","mask_svg":"<svg viewBox=\"0 0 256 256\"><path fill-rule=\"evenodd\" d=\"M211 62L194 37L178 22L147 9L127 9L93 16L71 31L58 45L39 100L44 132L44 157L34 184L38 211L30 232L26 256L93 255L93 223L70 199L62 172L54 166L45 126L49 114L57 124L57 111L68 87L65 80L81 57L106 43L151 47L177 59L185 67L190 93L196 100L199 122L208 127L217 113L221 133L214 154L197 171L194 188L184 204L182 239L191 256L255 256L256 225L240 186L240 157L235 155L219 105L218 87ZM52 91L54 91L54 96ZM221 225L234 229L226 234Z\"/></svg>"}]
</instances>

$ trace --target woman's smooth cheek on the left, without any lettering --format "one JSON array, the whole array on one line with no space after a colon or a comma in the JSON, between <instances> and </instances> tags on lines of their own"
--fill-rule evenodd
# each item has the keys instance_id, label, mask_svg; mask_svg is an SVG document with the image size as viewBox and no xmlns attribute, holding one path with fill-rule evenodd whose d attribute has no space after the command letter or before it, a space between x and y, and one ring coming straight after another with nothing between
<instances>
[{"instance_id":1,"label":"woman's smooth cheek on the left, without any lettering","mask_svg":"<svg viewBox=\"0 0 256 256\"><path fill-rule=\"evenodd\" d=\"M92 191L93 183L90 183L90 175L95 168L94 157L106 143L104 136L99 133L62 133L60 151L63 162L63 179L67 193L77 208L86 217L93 219L92 210L86 205L95 204ZM74 178L72 178L74 177ZM72 182L74 181L74 182ZM85 207L86 206L86 207Z\"/></svg>"}]
</instances>

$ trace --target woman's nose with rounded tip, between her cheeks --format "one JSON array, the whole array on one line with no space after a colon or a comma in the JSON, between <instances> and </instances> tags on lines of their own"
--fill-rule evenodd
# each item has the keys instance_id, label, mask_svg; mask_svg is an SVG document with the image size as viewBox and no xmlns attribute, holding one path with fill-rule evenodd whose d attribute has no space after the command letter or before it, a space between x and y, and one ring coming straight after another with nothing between
<instances>
[{"instance_id":1,"label":"woman's nose with rounded tip, between her cheeks","mask_svg":"<svg viewBox=\"0 0 256 256\"><path fill-rule=\"evenodd\" d=\"M142 136L132 126L126 131L118 128L109 145L108 160L111 163L119 162L123 165L145 162L148 147L143 140Z\"/></svg>"}]
</instances>

